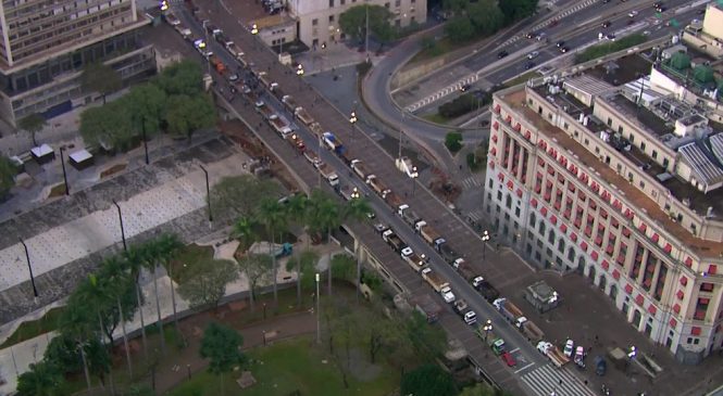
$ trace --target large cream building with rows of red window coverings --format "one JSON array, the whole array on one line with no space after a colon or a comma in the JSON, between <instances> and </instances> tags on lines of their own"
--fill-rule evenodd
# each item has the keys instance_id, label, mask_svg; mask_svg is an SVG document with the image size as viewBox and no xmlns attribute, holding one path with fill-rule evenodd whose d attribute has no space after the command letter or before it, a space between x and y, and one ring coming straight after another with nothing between
<instances>
[{"instance_id":1,"label":"large cream building with rows of red window coverings","mask_svg":"<svg viewBox=\"0 0 723 396\"><path fill-rule=\"evenodd\" d=\"M589 278L695 362L723 347L723 131L635 94L587 76L498 91L484 210L528 261Z\"/></svg>"}]
</instances>

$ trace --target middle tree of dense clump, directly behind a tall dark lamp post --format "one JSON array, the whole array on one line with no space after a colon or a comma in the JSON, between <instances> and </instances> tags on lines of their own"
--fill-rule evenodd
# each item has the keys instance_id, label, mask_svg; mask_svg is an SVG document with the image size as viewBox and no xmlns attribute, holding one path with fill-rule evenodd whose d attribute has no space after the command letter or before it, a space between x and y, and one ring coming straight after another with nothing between
<instances>
[{"instance_id":1,"label":"middle tree of dense clump, directly behind a tall dark lamp post","mask_svg":"<svg viewBox=\"0 0 723 396\"><path fill-rule=\"evenodd\" d=\"M165 92L155 85L142 84L130 88L124 99L130 108L133 125L142 131L146 139L159 133L165 116Z\"/></svg>"}]
</instances>

